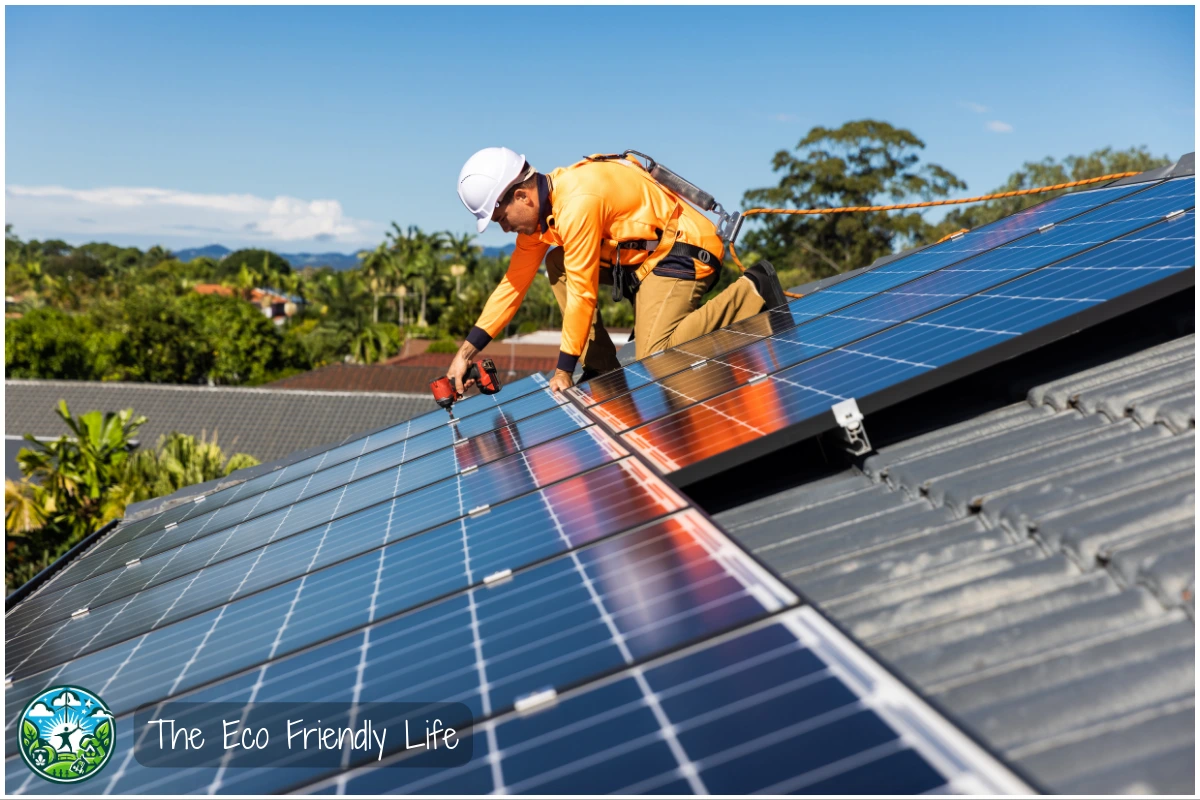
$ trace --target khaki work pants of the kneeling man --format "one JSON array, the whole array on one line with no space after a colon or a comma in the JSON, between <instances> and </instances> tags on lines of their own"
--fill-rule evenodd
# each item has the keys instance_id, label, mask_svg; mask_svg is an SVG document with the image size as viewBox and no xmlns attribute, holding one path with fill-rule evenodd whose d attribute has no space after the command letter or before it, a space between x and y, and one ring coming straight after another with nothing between
<instances>
[{"instance_id":1,"label":"khaki work pants of the kneeling man","mask_svg":"<svg viewBox=\"0 0 1200 800\"><path fill-rule=\"evenodd\" d=\"M556 247L546 254L546 275L559 309L565 312L566 272L563 267L562 247ZM611 270L600 270L600 275L602 284L612 284ZM715 282L715 275L703 281L667 278L653 272L646 276L637 289L634 306L634 341L637 343L637 357L644 359L659 350L683 344L746 317L754 317L763 309L762 297L755 291L754 284L745 278L734 281L725 291L701 306L700 301ZM599 303L580 362L586 369L601 373L620 366L617 361L617 348L613 347L608 331L600 319Z\"/></svg>"}]
</instances>

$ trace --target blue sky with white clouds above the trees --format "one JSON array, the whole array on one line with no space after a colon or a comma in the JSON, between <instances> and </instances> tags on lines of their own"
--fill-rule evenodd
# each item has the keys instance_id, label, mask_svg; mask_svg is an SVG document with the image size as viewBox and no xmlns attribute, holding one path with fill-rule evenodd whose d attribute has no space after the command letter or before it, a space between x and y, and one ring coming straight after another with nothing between
<instances>
[{"instance_id":1,"label":"blue sky with white clouds above the trees","mask_svg":"<svg viewBox=\"0 0 1200 800\"><path fill-rule=\"evenodd\" d=\"M349 252L391 221L466 233L455 180L493 144L544 169L632 148L727 206L812 126L863 118L912 130L971 193L1044 156L1195 149L1190 6L10 6L5 22L5 218L25 239Z\"/></svg>"}]
</instances>

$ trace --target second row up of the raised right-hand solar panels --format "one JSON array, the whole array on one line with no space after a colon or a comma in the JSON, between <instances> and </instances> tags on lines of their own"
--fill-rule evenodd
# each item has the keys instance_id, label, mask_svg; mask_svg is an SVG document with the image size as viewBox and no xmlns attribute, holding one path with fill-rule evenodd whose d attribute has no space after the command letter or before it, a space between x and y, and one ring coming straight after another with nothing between
<instances>
[{"instance_id":1,"label":"second row up of the raised right-hand solar panels","mask_svg":"<svg viewBox=\"0 0 1200 800\"><path fill-rule=\"evenodd\" d=\"M1049 261L1094 247L1114 236L1162 219L1164 215L1186 207L1181 205L1183 203L1194 203L1194 180L1190 178L1129 194L1052 228L923 273L922 277L888 291L871 294L836 312L818 315L820 309L809 308L804 314L811 319L803 319L800 312L790 309L793 318L800 319L785 332L748 344L720 359L696 361L690 369L593 405L592 410L612 431L628 431L1024 275ZM910 258L919 259L924 252ZM901 269L907 260L892 261L880 267L883 272L864 273L858 279L877 285L881 278L892 281L892 276L896 273L924 272L923 266L914 270ZM859 296L863 289L842 288L851 283L853 281L846 281L811 295L812 303L827 291ZM802 297L796 303L805 300L809 299ZM840 300L826 299L822 302L828 306ZM775 314L776 318L780 315Z\"/></svg>"}]
</instances>

